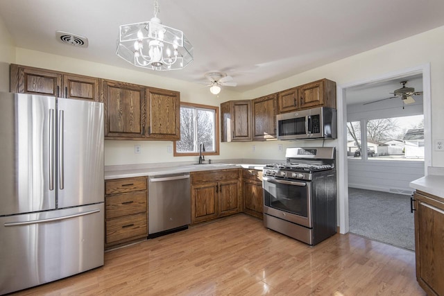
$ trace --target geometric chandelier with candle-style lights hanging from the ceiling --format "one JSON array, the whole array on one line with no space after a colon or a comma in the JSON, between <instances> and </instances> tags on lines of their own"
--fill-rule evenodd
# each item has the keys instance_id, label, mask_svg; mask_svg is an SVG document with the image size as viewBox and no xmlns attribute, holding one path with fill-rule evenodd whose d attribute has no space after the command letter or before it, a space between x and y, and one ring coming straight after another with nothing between
<instances>
[{"instance_id":1,"label":"geometric chandelier with candle-style lights hanging from the ceiling","mask_svg":"<svg viewBox=\"0 0 444 296\"><path fill-rule=\"evenodd\" d=\"M116 54L137 67L156 71L182 69L193 61L193 46L182 31L162 25L157 13L159 3L154 0L154 17L150 21L121 25Z\"/></svg>"}]
</instances>

